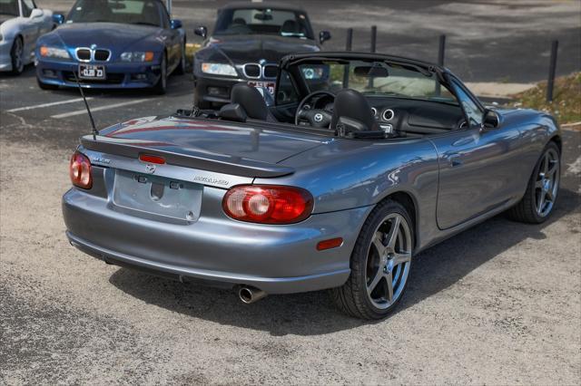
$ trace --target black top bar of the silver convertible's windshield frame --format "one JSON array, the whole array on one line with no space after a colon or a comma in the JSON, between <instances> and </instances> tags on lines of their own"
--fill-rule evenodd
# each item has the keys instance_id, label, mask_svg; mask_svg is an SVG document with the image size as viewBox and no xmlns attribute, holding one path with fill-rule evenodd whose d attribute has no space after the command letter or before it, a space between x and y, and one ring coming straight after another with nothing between
<instances>
[{"instance_id":1,"label":"black top bar of the silver convertible's windshield frame","mask_svg":"<svg viewBox=\"0 0 581 386\"><path fill-rule=\"evenodd\" d=\"M345 59L345 60L377 60L377 61L385 61L391 63L401 63L401 64L410 64L417 67L424 68L429 72L450 72L446 67L439 66L438 64L429 63L420 61L418 59L410 59L403 56L395 56L395 55L386 55L382 53L357 53L352 51L337 51L337 52L329 52L329 51L320 51L318 53L291 53L289 55L284 56L281 59L281 67L286 67L291 63L295 63L301 60L308 60L308 59L315 59L315 60L333 60L333 59Z\"/></svg>"}]
</instances>

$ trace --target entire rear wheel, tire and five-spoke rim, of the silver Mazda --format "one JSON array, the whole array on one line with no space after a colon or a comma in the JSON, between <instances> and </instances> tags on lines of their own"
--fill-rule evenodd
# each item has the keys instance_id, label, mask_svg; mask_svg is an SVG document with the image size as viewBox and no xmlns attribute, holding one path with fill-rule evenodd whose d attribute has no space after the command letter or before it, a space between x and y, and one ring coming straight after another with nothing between
<instances>
[{"instance_id":1,"label":"entire rear wheel, tire and five-spoke rim, of the silver Mazda","mask_svg":"<svg viewBox=\"0 0 581 386\"><path fill-rule=\"evenodd\" d=\"M351 255L347 283L331 290L341 311L361 319L381 319L399 303L408 284L414 243L405 207L391 200L373 209Z\"/></svg>"}]
</instances>

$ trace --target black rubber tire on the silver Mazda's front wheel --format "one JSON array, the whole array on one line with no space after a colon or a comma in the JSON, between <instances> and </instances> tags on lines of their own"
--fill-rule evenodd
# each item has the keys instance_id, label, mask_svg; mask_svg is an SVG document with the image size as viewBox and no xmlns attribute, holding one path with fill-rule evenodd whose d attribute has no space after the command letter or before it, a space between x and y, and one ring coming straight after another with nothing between
<instances>
[{"instance_id":1,"label":"black rubber tire on the silver Mazda's front wheel","mask_svg":"<svg viewBox=\"0 0 581 386\"><path fill-rule=\"evenodd\" d=\"M551 188L546 191L545 188L543 188L546 185L544 169L545 165L547 165L547 168L549 168L550 171L551 162L547 161L547 159L551 158L556 160L556 163L553 163L553 167L555 168L555 179L553 180L554 182ZM507 210L507 217L527 224L540 224L547 221L547 218L553 212L556 198L558 197L560 172L561 152L556 146L556 143L551 141L547 144L545 150L543 150L541 157L537 160L537 165L535 165L533 174L530 176L530 179L528 179L525 196L523 196L516 206ZM549 193L552 197L550 201L547 199ZM545 195L547 203L545 203L545 206L543 207L541 202L541 208L539 210L540 195Z\"/></svg>"}]
</instances>

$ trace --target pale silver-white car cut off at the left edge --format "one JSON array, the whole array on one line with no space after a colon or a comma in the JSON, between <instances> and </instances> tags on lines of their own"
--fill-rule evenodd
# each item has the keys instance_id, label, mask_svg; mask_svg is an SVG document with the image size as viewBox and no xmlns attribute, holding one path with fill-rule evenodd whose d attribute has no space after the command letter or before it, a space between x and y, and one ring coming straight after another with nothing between
<instances>
[{"instance_id":1,"label":"pale silver-white car cut off at the left edge","mask_svg":"<svg viewBox=\"0 0 581 386\"><path fill-rule=\"evenodd\" d=\"M53 11L34 0L0 0L0 71L23 72L34 61L36 39L54 26Z\"/></svg>"}]
</instances>

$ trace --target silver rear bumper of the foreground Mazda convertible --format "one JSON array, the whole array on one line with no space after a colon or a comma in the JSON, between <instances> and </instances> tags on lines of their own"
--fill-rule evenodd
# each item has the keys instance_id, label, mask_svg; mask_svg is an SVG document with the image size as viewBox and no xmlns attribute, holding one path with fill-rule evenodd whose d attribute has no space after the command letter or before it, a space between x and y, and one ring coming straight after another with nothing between
<instances>
[{"instance_id":1,"label":"silver rear bumper of the foreground Mazda convertible","mask_svg":"<svg viewBox=\"0 0 581 386\"><path fill-rule=\"evenodd\" d=\"M133 265L179 279L226 286L252 285L268 294L340 286L350 275L350 254L369 207L313 215L300 224L263 226L223 215L224 190L204 188L204 207L192 224L171 224L118 211L107 198L79 189L63 198L71 244L117 265ZM317 251L321 240L342 246Z\"/></svg>"}]
</instances>

